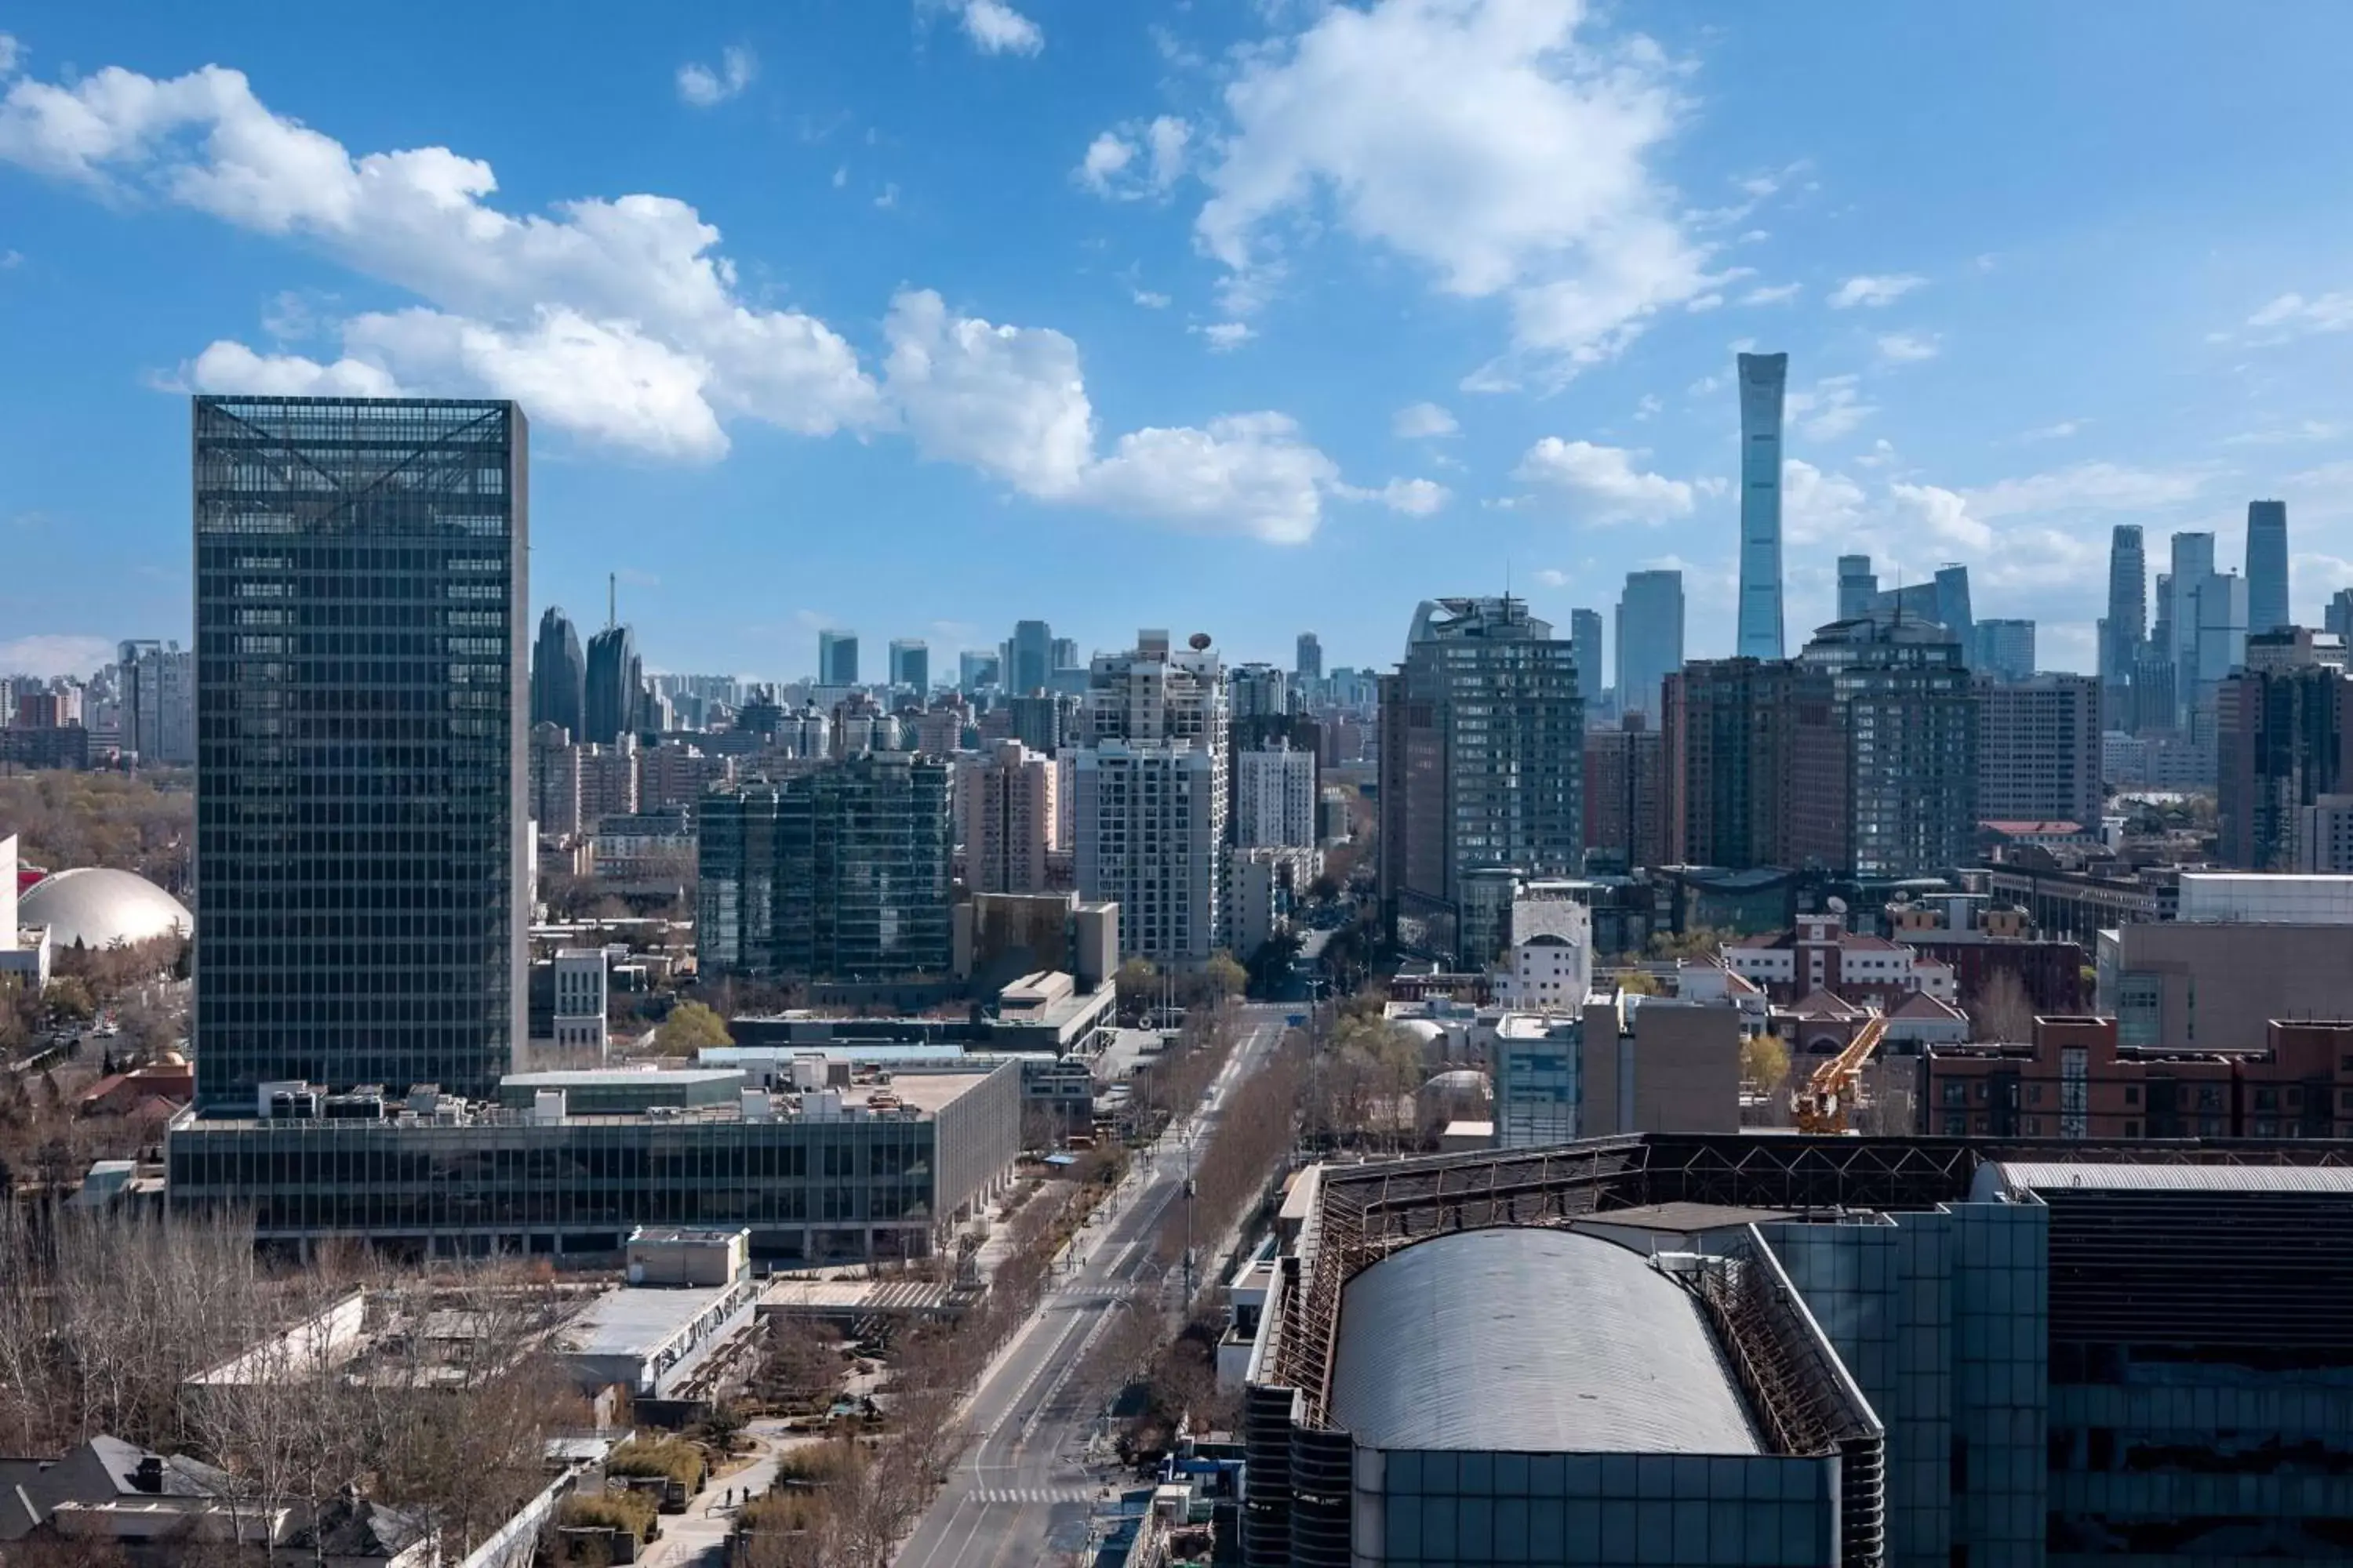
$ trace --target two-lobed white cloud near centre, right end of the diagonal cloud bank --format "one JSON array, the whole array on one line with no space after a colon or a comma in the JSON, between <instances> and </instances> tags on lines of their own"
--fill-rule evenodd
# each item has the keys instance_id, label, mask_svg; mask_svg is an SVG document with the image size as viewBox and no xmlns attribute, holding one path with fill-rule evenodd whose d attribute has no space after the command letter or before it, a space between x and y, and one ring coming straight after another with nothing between
<instances>
[{"instance_id":1,"label":"two-lobed white cloud near centre, right end of the diagonal cloud bank","mask_svg":"<svg viewBox=\"0 0 2353 1568\"><path fill-rule=\"evenodd\" d=\"M1311 538L1325 496L1398 505L1395 484L1372 496L1341 484L1339 465L1282 414L1134 430L1099 456L1078 343L1045 327L955 317L936 294L904 292L885 336L885 383L922 451L972 463L1040 501L1271 543Z\"/></svg>"}]
</instances>

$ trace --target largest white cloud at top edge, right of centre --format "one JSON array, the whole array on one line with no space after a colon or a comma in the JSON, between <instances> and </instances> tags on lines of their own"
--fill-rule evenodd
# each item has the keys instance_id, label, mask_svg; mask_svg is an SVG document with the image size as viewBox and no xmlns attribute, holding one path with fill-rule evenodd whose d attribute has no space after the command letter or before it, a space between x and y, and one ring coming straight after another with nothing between
<instances>
[{"instance_id":1,"label":"largest white cloud at top edge, right of centre","mask_svg":"<svg viewBox=\"0 0 2353 1568\"><path fill-rule=\"evenodd\" d=\"M1649 40L1581 21L1579 0L1381 0L1245 54L1195 221L1228 306L1259 303L1329 216L1447 294L1511 303L1485 388L1562 381L1708 294L1706 247L1647 167L1675 129L1675 73Z\"/></svg>"}]
</instances>

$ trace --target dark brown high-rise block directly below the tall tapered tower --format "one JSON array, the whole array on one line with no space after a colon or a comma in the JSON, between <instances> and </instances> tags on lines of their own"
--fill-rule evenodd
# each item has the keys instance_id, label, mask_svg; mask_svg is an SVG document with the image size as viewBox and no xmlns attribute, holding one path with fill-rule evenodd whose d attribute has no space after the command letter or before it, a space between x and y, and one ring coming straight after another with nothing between
<instances>
[{"instance_id":1,"label":"dark brown high-rise block directly below the tall tapered tower","mask_svg":"<svg viewBox=\"0 0 2353 1568\"><path fill-rule=\"evenodd\" d=\"M1786 658L1699 658L1666 682L1666 858L1675 865L1795 865L1788 849L1798 668Z\"/></svg>"}]
</instances>

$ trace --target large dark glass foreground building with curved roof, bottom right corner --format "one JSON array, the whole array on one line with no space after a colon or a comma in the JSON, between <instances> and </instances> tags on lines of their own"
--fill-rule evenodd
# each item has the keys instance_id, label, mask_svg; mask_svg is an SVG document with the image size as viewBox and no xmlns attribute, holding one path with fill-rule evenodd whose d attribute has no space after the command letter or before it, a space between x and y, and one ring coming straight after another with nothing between
<instances>
[{"instance_id":1,"label":"large dark glass foreground building with curved roof, bottom right corner","mask_svg":"<svg viewBox=\"0 0 2353 1568\"><path fill-rule=\"evenodd\" d=\"M1654 1133L1301 1180L1252 1566L2353 1556L2353 1145Z\"/></svg>"}]
</instances>

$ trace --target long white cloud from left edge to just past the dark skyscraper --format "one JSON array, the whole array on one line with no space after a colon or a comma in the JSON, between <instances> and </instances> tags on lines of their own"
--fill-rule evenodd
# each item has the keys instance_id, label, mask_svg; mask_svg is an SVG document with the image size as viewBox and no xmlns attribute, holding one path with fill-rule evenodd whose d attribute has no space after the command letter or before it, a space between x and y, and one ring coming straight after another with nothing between
<instances>
[{"instance_id":1,"label":"long white cloud from left edge to just past the dark skyscraper","mask_svg":"<svg viewBox=\"0 0 2353 1568\"><path fill-rule=\"evenodd\" d=\"M172 80L111 66L73 87L19 80L0 99L0 162L301 240L464 322L454 339L376 331L346 343L402 386L468 364L468 383L496 374L492 390L546 388L581 371L595 339L614 350L602 360L612 374L536 409L548 425L680 456L722 449L711 440L720 416L802 435L887 423L849 343L809 315L746 301L715 252L718 228L671 197L584 197L515 216L489 202L489 165L447 148L353 158L219 66ZM480 353L452 357L449 341ZM416 374L402 353L426 353ZM231 364L219 346L207 355Z\"/></svg>"}]
</instances>

